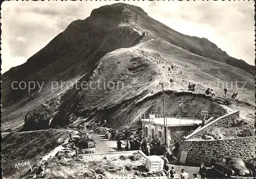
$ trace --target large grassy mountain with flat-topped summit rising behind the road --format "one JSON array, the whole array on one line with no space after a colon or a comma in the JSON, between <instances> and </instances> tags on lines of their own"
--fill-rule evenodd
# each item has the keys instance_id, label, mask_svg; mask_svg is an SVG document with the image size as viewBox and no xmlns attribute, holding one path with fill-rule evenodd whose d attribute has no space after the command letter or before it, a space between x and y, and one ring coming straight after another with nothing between
<instances>
[{"instance_id":1,"label":"large grassy mountain with flat-topped summit rising behind the road","mask_svg":"<svg viewBox=\"0 0 256 179\"><path fill-rule=\"evenodd\" d=\"M186 91L188 82L195 82L196 91L204 93L211 82L211 88L219 97L223 95L223 86L218 86L217 80L227 82L229 88L236 79L247 81L246 89L241 89L243 83L238 84L237 89L230 89L229 95L238 92L241 100L254 102L251 98L254 94L251 68L248 64L242 68L236 60L227 62L226 59L229 56L213 43L180 34L147 16L141 8L120 3L103 6L93 10L87 19L71 23L25 64L2 75L3 129L22 126L25 114L49 99L59 100L51 123L53 127L72 125L73 117L96 121L111 119L122 125L132 125L131 122L137 120L142 111L161 108L161 97L152 98L154 103L145 102L148 105L137 106L136 102L152 90L154 93L160 91L162 77L165 89L173 91L173 94ZM158 64L159 60L164 63ZM177 65L178 70L168 71L171 64ZM175 79L172 84L170 77ZM111 81L115 87L68 90L59 86L52 92L51 82L60 83L61 80L78 81L78 86L82 81ZM40 93L38 88L28 93L27 90L11 89L12 81L45 83ZM123 88L117 89L120 82ZM188 95L187 98L193 101L194 96ZM171 94L166 99L176 105L177 99ZM204 104L206 99L200 96L198 101ZM171 107L168 105L166 107ZM203 106L198 106L197 111L203 110ZM189 113L193 112L192 108L190 110ZM115 122L106 125L117 126Z\"/></svg>"}]
</instances>

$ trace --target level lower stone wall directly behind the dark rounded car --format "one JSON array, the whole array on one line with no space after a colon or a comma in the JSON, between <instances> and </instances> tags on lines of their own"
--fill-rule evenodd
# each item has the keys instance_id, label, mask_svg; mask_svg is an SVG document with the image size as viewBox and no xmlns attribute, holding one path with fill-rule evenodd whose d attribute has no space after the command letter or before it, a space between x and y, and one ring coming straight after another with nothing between
<instances>
[{"instance_id":1,"label":"level lower stone wall directly behind the dark rounded car","mask_svg":"<svg viewBox=\"0 0 256 179\"><path fill-rule=\"evenodd\" d=\"M205 163L209 166L211 159L220 155L238 155L247 162L254 155L255 136L222 140L186 140L180 141L180 151L187 151L187 163Z\"/></svg>"}]
</instances>

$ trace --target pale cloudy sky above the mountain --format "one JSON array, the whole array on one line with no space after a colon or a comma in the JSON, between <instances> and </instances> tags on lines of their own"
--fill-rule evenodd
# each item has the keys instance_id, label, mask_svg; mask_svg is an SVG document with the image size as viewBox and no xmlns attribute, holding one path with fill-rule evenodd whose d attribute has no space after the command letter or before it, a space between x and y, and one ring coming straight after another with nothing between
<instances>
[{"instance_id":1,"label":"pale cloudy sky above the mountain","mask_svg":"<svg viewBox=\"0 0 256 179\"><path fill-rule=\"evenodd\" d=\"M6 1L1 10L1 73L25 63L72 21L114 3L139 6L166 26L205 37L228 55L254 65L253 1Z\"/></svg>"}]
</instances>

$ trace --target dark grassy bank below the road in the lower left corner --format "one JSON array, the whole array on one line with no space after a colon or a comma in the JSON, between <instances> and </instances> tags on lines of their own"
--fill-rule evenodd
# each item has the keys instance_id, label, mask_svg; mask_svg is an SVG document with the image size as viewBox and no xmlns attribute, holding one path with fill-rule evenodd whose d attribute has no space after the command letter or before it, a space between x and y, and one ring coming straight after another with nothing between
<instances>
[{"instance_id":1,"label":"dark grassy bank below the road in the lower left corner","mask_svg":"<svg viewBox=\"0 0 256 179\"><path fill-rule=\"evenodd\" d=\"M3 176L18 178L30 168L22 166L17 169L14 164L29 162L31 166L34 165L67 137L67 130L54 129L9 133L2 139Z\"/></svg>"}]
</instances>

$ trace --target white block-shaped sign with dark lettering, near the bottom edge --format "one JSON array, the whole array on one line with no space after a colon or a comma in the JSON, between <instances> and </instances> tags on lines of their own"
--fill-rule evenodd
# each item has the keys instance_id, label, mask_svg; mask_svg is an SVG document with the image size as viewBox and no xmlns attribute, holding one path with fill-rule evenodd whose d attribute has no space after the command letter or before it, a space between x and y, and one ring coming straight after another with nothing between
<instances>
[{"instance_id":1,"label":"white block-shaped sign with dark lettering, near the bottom edge","mask_svg":"<svg viewBox=\"0 0 256 179\"><path fill-rule=\"evenodd\" d=\"M163 163L164 162L160 158L160 156L157 156L157 155L147 156L145 167L150 171L158 172L163 170Z\"/></svg>"}]
</instances>

